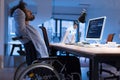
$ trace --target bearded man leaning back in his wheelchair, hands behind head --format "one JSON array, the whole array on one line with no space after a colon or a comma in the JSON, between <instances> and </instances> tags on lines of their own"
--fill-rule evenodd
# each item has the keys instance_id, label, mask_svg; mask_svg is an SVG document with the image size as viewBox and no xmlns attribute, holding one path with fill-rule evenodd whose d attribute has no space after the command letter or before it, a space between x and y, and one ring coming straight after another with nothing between
<instances>
[{"instance_id":1,"label":"bearded man leaning back in his wheelchair, hands behind head","mask_svg":"<svg viewBox=\"0 0 120 80\"><path fill-rule=\"evenodd\" d=\"M15 30L16 30L15 33L16 33L16 36L20 38L19 40L25 47L26 62L27 62L27 65L29 65L23 71L21 71L20 70L21 68L19 67L18 70L16 70L18 72L16 72L15 74L17 75L18 73L18 77L14 78L14 80L23 80L22 77L25 78L26 74L28 74L29 71L31 72L34 70L36 72L36 70L38 69L39 69L38 70L39 72L37 71L38 73L42 72L39 75L43 73L44 75L45 74L47 75L47 73L49 73L48 72L49 70L55 73L57 77L60 76L59 74L64 74L64 77L67 76L68 78L68 77L72 77L71 75L74 75L75 73L78 73L78 76L80 76L81 75L80 63L79 63L79 59L77 59L76 57L73 57L73 56L60 57L59 56L55 58L55 61L54 61L54 58L49 57L47 47L45 45L43 38L40 36L39 32L29 24L29 21L34 20L35 17L32 14L32 12L28 10L26 7L27 7L26 4L22 0L20 0L19 4L11 9L11 16L14 17L14 20L15 20ZM37 64L31 65L35 60L42 59L42 58L46 58L45 62L48 62L48 63L51 63L53 60L51 65L55 69L55 71L52 70L53 68L51 66L46 64L43 65L43 63L41 62L40 64L38 63L38 65ZM60 67L60 64L62 64L61 67ZM19 71L21 72L19 73ZM73 80L72 78L71 79L69 78L67 79L67 78L65 79L58 78L58 80ZM33 79L33 80L44 80L44 79ZM45 80L57 80L57 79L51 78L51 79L45 79ZM75 80L81 80L81 79L79 77L79 78L76 78Z\"/></svg>"}]
</instances>

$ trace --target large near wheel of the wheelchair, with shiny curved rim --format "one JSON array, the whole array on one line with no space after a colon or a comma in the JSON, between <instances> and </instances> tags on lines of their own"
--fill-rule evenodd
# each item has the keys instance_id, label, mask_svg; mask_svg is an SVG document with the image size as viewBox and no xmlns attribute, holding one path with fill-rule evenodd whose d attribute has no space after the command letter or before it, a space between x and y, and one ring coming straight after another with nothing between
<instances>
[{"instance_id":1,"label":"large near wheel of the wheelchair, with shiny curved rim","mask_svg":"<svg viewBox=\"0 0 120 80\"><path fill-rule=\"evenodd\" d=\"M36 63L28 66L17 80L61 80L61 78L49 64Z\"/></svg>"}]
</instances>

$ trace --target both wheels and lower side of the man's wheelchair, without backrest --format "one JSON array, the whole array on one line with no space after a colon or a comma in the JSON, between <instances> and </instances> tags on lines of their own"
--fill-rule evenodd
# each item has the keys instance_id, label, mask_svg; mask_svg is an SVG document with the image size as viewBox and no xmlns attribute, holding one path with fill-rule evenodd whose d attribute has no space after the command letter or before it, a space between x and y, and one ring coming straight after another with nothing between
<instances>
[{"instance_id":1,"label":"both wheels and lower side of the man's wheelchair, without backrest","mask_svg":"<svg viewBox=\"0 0 120 80\"><path fill-rule=\"evenodd\" d=\"M30 66L22 63L15 72L14 80L62 80L59 73L52 66L57 60L49 58L36 60ZM59 63L59 62L58 62ZM63 66L59 63L61 67Z\"/></svg>"}]
</instances>

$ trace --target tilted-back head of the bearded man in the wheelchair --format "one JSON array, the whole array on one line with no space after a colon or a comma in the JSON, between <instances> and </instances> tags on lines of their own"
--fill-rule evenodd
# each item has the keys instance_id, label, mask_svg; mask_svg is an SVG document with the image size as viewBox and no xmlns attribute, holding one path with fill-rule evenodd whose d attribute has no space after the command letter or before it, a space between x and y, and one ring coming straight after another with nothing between
<instances>
[{"instance_id":1,"label":"tilted-back head of the bearded man in the wheelchair","mask_svg":"<svg viewBox=\"0 0 120 80\"><path fill-rule=\"evenodd\" d=\"M32 14L32 12L30 10L28 10L26 8L26 3L23 2L23 0L20 0L19 4L14 6L11 10L10 10L10 16L13 16L13 13L16 9L21 9L24 13L25 13L25 16L26 16L26 19L25 21L32 21L34 20L35 16Z\"/></svg>"}]
</instances>

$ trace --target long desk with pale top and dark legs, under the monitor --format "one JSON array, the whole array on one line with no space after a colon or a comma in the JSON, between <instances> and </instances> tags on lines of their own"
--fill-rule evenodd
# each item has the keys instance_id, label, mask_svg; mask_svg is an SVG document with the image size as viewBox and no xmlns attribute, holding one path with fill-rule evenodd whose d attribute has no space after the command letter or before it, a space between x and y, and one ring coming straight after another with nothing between
<instances>
[{"instance_id":1,"label":"long desk with pale top and dark legs, under the monitor","mask_svg":"<svg viewBox=\"0 0 120 80\"><path fill-rule=\"evenodd\" d=\"M120 61L120 48L80 47L62 43L50 44L52 51L66 51L90 59L90 80L99 80L99 62Z\"/></svg>"}]
</instances>

